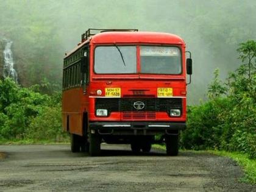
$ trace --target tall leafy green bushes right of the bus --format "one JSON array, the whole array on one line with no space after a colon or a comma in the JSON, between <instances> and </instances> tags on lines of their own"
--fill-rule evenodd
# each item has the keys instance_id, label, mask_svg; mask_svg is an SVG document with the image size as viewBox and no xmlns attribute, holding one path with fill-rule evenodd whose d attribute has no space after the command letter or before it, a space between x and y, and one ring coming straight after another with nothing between
<instances>
[{"instance_id":1,"label":"tall leafy green bushes right of the bus","mask_svg":"<svg viewBox=\"0 0 256 192\"><path fill-rule=\"evenodd\" d=\"M256 158L256 41L237 49L242 64L219 80L219 71L208 87L208 101L188 107L185 149L244 152Z\"/></svg>"}]
</instances>

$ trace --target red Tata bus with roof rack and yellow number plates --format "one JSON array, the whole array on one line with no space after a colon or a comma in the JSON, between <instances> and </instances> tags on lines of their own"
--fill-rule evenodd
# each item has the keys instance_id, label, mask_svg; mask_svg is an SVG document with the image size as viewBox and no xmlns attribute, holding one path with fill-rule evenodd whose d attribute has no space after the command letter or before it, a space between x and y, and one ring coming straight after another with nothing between
<instances>
[{"instance_id":1,"label":"red Tata bus with roof rack and yellow number plates","mask_svg":"<svg viewBox=\"0 0 256 192\"><path fill-rule=\"evenodd\" d=\"M63 129L71 135L71 151L99 155L104 142L149 152L152 144L165 142L166 154L177 155L186 127L186 74L192 73L185 52L184 41L173 34L82 34L63 65Z\"/></svg>"}]
</instances>

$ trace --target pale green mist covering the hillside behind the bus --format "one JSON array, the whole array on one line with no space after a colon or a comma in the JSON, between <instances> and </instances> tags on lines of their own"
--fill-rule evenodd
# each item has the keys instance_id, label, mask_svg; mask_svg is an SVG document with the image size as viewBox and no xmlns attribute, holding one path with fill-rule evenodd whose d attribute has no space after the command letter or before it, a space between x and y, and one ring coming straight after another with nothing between
<instances>
[{"instance_id":1,"label":"pale green mist covering the hillside behind the bus","mask_svg":"<svg viewBox=\"0 0 256 192\"><path fill-rule=\"evenodd\" d=\"M188 87L188 102L192 104L204 98L215 68L224 79L238 67L238 43L256 37L255 10L254 0L0 0L0 36L13 41L21 85L49 82L53 90L60 90L63 55L90 27L177 34L193 56L194 74ZM2 65L2 54L0 62Z\"/></svg>"}]
</instances>

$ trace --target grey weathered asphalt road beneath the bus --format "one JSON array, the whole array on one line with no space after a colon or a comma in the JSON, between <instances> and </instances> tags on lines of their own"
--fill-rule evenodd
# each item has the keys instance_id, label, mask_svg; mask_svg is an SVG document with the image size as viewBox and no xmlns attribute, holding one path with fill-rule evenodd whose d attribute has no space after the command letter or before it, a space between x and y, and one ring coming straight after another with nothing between
<instances>
[{"instance_id":1,"label":"grey weathered asphalt road beneath the bus","mask_svg":"<svg viewBox=\"0 0 256 192\"><path fill-rule=\"evenodd\" d=\"M243 172L229 158L102 148L101 157L89 157L67 145L0 146L7 154L0 160L0 191L256 191L239 182Z\"/></svg>"}]
</instances>

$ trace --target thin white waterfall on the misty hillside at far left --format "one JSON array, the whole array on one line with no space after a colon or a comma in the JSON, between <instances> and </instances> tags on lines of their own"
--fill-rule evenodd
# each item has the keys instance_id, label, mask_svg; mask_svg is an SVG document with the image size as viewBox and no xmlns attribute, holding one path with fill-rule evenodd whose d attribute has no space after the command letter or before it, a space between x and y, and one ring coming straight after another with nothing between
<instances>
[{"instance_id":1,"label":"thin white waterfall on the misty hillside at far left","mask_svg":"<svg viewBox=\"0 0 256 192\"><path fill-rule=\"evenodd\" d=\"M3 76L4 78L10 77L15 82L18 80L18 75L13 68L14 62L13 62L13 56L12 56L12 41L6 40L5 48L4 48L4 68L3 68Z\"/></svg>"}]
</instances>

